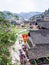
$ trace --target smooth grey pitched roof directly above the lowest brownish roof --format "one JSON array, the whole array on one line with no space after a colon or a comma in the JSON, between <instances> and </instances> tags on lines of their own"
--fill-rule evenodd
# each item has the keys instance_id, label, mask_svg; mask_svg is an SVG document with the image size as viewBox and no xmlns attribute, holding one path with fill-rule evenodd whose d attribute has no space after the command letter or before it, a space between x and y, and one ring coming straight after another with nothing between
<instances>
[{"instance_id":1,"label":"smooth grey pitched roof directly above the lowest brownish roof","mask_svg":"<svg viewBox=\"0 0 49 65\"><path fill-rule=\"evenodd\" d=\"M40 29L30 31L34 44L49 44L49 29Z\"/></svg>"}]
</instances>

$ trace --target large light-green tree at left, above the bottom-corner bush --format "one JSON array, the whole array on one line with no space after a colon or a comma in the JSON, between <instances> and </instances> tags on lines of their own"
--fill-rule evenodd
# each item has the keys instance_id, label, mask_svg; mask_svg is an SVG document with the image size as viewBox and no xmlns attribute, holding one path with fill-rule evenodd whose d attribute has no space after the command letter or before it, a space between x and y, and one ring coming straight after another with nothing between
<instances>
[{"instance_id":1,"label":"large light-green tree at left, above the bottom-corner bush","mask_svg":"<svg viewBox=\"0 0 49 65\"><path fill-rule=\"evenodd\" d=\"M16 37L17 36L12 25L10 25L8 21L4 20L4 24L1 26L0 30L0 43L9 45L16 41Z\"/></svg>"}]
</instances>

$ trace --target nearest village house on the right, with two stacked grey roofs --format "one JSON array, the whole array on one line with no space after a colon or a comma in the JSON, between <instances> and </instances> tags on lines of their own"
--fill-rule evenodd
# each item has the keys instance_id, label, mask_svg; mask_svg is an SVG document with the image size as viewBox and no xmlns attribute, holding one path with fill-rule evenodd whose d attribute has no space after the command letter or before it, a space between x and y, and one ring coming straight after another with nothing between
<instances>
[{"instance_id":1,"label":"nearest village house on the right, with two stacked grey roofs","mask_svg":"<svg viewBox=\"0 0 49 65\"><path fill-rule=\"evenodd\" d=\"M30 30L29 59L47 57L49 54L49 29Z\"/></svg>"}]
</instances>

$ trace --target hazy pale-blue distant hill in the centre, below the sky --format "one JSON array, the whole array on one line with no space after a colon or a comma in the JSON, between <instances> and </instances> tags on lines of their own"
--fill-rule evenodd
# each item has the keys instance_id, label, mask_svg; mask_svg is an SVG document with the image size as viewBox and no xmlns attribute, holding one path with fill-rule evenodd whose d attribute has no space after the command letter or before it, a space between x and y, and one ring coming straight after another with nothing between
<instances>
[{"instance_id":1,"label":"hazy pale-blue distant hill in the centre, below the sky","mask_svg":"<svg viewBox=\"0 0 49 65\"><path fill-rule=\"evenodd\" d=\"M21 12L18 14L19 17L23 18L23 19L29 19L30 17L34 16L34 15L38 15L41 14L41 12Z\"/></svg>"}]
</instances>

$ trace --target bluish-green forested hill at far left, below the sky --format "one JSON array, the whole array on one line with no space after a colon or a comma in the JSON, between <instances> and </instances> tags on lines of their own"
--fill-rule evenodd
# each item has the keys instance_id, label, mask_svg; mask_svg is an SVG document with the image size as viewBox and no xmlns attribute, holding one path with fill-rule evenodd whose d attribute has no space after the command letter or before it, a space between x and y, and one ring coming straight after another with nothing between
<instances>
[{"instance_id":1,"label":"bluish-green forested hill at far left, below the sky","mask_svg":"<svg viewBox=\"0 0 49 65\"><path fill-rule=\"evenodd\" d=\"M19 19L17 14L11 13L9 11L0 11L0 18L4 19Z\"/></svg>"}]
</instances>

